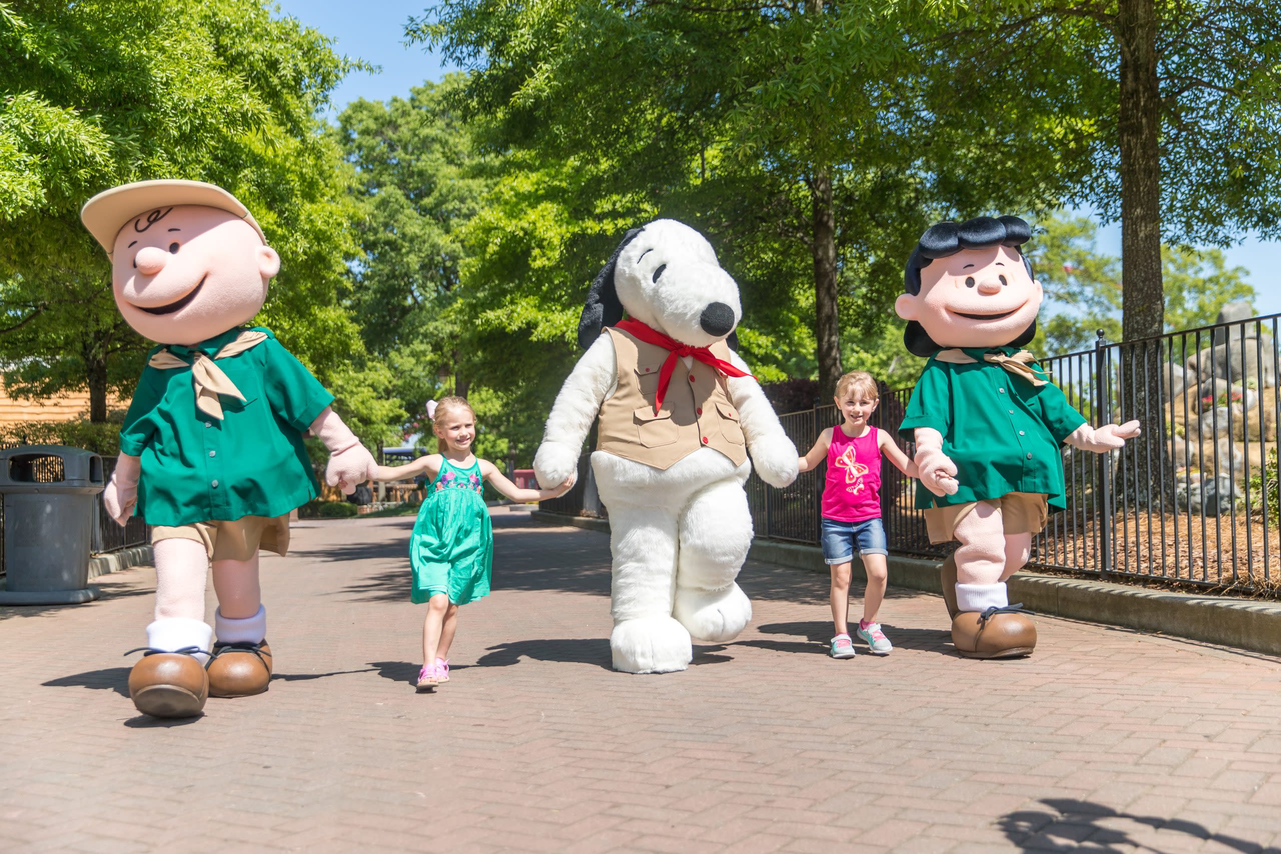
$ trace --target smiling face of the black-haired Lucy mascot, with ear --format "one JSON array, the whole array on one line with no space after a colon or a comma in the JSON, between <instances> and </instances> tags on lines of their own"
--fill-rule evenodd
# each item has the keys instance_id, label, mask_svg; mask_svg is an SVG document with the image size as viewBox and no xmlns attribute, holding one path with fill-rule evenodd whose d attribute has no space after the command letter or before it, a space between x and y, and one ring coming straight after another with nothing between
<instances>
[{"instance_id":1,"label":"smiling face of the black-haired Lucy mascot, with ear","mask_svg":"<svg viewBox=\"0 0 1281 854\"><path fill-rule=\"evenodd\" d=\"M1041 296L1018 251L993 246L936 259L894 310L942 347L1003 347L1036 320Z\"/></svg>"}]
</instances>

